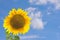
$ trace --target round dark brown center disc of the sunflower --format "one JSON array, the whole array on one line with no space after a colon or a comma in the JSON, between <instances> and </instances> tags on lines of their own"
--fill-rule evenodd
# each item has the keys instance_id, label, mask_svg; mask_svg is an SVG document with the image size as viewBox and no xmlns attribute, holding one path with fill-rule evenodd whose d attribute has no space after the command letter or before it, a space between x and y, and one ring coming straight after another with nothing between
<instances>
[{"instance_id":1,"label":"round dark brown center disc of the sunflower","mask_svg":"<svg viewBox=\"0 0 60 40\"><path fill-rule=\"evenodd\" d=\"M10 24L13 28L15 29L19 29L19 28L22 28L24 27L25 25L25 19L22 15L14 15L11 20L10 20Z\"/></svg>"}]
</instances>

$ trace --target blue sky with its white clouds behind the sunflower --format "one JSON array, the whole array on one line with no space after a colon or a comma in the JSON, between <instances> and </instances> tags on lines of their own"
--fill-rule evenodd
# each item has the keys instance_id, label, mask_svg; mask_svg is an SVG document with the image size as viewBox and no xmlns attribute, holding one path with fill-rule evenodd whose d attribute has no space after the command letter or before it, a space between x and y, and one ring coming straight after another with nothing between
<instances>
[{"instance_id":1,"label":"blue sky with its white clouds behind the sunflower","mask_svg":"<svg viewBox=\"0 0 60 40\"><path fill-rule=\"evenodd\" d=\"M60 0L0 0L0 39L5 40L3 19L12 8L29 13L31 28L21 40L60 40Z\"/></svg>"}]
</instances>

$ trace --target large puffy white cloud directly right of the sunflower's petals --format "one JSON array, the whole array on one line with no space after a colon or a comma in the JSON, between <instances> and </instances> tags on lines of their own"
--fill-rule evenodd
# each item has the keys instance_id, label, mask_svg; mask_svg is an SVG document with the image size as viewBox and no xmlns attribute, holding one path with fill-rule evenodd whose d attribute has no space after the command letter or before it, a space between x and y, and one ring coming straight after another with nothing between
<instances>
[{"instance_id":1,"label":"large puffy white cloud directly right of the sunflower's petals","mask_svg":"<svg viewBox=\"0 0 60 40\"><path fill-rule=\"evenodd\" d=\"M26 9L29 12L29 16L32 18L31 25L34 29L43 29L44 22L42 21L41 11L38 11L36 8L29 7Z\"/></svg>"}]
</instances>

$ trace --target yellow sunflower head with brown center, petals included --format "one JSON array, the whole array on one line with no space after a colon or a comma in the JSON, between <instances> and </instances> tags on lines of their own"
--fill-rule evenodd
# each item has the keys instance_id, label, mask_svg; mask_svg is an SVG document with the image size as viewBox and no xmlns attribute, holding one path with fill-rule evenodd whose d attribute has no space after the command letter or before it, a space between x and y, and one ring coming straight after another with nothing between
<instances>
[{"instance_id":1,"label":"yellow sunflower head with brown center, petals included","mask_svg":"<svg viewBox=\"0 0 60 40\"><path fill-rule=\"evenodd\" d=\"M13 8L9 15L5 17L3 27L8 33L14 35L25 34L30 29L30 20L28 13L20 8Z\"/></svg>"}]
</instances>

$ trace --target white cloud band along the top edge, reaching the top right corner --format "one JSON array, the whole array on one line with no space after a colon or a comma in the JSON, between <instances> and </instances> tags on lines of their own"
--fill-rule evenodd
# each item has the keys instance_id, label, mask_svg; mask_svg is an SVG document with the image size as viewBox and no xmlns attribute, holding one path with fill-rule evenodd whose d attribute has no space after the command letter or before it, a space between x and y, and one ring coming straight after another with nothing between
<instances>
[{"instance_id":1,"label":"white cloud band along the top edge, reaching the top right corner","mask_svg":"<svg viewBox=\"0 0 60 40\"><path fill-rule=\"evenodd\" d=\"M60 9L60 0L29 0L29 3L34 5L43 5L47 4L48 2L55 5L55 9Z\"/></svg>"}]
</instances>

